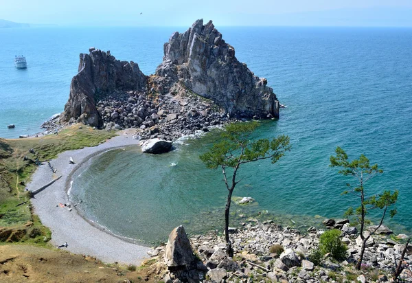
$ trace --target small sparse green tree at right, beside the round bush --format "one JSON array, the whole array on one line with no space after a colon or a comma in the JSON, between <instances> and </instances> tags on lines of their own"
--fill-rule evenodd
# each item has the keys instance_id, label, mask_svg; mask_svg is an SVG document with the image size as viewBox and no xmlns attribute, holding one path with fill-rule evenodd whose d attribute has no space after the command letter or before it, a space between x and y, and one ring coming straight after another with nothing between
<instances>
[{"instance_id":1,"label":"small sparse green tree at right, beside the round bush","mask_svg":"<svg viewBox=\"0 0 412 283\"><path fill-rule=\"evenodd\" d=\"M359 159L348 161L347 154L342 148L338 146L335 152L336 156L330 157L330 167L341 167L342 169L339 170L339 174L343 174L343 176L352 176L356 180L356 185L347 183L346 185L349 190L346 190L342 194L352 193L357 196L359 201L361 202L361 205L357 207L356 210L350 207L347 212L345 212L346 216L355 216L356 221L359 223L359 225L361 225L361 255L359 256L359 260L356 263L356 269L359 270L361 269L366 242L367 240L369 240L371 235L373 235L382 225L388 207L395 205L396 201L398 200L398 190L393 192L393 194L391 194L390 190L385 190L382 194L367 196L367 194L365 193L365 182L375 177L376 174L382 174L383 170L378 168L378 164L371 166L369 159L367 159L365 155L361 155ZM369 235L365 236L363 234L365 225L370 223L370 221L367 220L366 216L370 210L376 209L382 210L379 225L374 227ZM395 216L396 213L396 208L389 210L391 218Z\"/></svg>"}]
</instances>

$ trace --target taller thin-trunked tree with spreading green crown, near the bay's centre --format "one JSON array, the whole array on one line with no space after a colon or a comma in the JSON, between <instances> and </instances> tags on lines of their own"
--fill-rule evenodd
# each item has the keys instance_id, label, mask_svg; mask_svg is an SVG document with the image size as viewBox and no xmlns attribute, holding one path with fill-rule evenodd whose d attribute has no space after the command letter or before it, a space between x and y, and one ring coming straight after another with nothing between
<instances>
[{"instance_id":1,"label":"taller thin-trunked tree with spreading green crown, near the bay's centre","mask_svg":"<svg viewBox=\"0 0 412 283\"><path fill-rule=\"evenodd\" d=\"M257 122L229 124L226 126L226 131L222 133L222 141L214 144L200 156L207 168L222 168L223 181L228 191L225 207L225 240L229 256L233 256L229 239L229 212L233 190L241 181L237 179L240 166L262 159L271 159L272 163L276 163L280 157L284 156L286 150L290 150L289 137L286 135L280 135L271 140L251 141L251 134L257 126ZM231 179L227 176L228 169L230 169Z\"/></svg>"}]
</instances>

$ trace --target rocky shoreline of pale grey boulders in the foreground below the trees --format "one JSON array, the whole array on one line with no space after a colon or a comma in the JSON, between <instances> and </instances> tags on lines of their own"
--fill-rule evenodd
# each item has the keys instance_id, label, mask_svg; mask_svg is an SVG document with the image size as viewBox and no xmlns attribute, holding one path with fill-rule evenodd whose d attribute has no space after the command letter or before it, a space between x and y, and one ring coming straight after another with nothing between
<instances>
[{"instance_id":1,"label":"rocky shoreline of pale grey boulders in the foreground below the trees","mask_svg":"<svg viewBox=\"0 0 412 283\"><path fill-rule=\"evenodd\" d=\"M169 236L168 245L149 251L157 259L152 275L163 282L393 282L406 235L389 236L387 227L372 236L365 250L361 271L354 269L361 249L360 236L348 220L325 220L325 229L310 227L306 233L282 227L271 220L231 228L233 258L225 252L225 238L211 231L187 239L183 227ZM328 228L341 229L347 245L345 260L325 255L321 264L310 262L310 254L319 246L319 237ZM183 229L183 231L182 231ZM186 240L187 239L187 240ZM187 243L190 247L187 248ZM282 247L282 249L273 249ZM173 251L173 252L171 252ZM177 251L177 252L176 252ZM193 257L195 254L195 258ZM409 246L400 279L412 282L412 247Z\"/></svg>"}]
</instances>

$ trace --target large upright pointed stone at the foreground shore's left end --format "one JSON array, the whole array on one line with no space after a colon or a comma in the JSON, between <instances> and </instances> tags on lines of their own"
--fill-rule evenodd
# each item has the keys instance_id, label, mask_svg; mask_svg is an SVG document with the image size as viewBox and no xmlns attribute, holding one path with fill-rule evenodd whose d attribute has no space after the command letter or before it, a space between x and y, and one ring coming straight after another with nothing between
<instances>
[{"instance_id":1,"label":"large upright pointed stone at the foreground shore's left end","mask_svg":"<svg viewBox=\"0 0 412 283\"><path fill-rule=\"evenodd\" d=\"M170 233L164 257L168 267L190 267L194 262L192 247L183 226L174 228Z\"/></svg>"}]
</instances>

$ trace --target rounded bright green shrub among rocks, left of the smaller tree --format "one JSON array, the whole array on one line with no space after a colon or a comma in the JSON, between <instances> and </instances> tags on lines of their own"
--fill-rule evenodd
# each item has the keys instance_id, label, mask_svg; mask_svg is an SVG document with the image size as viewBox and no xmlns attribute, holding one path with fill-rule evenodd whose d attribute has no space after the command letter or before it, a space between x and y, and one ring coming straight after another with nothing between
<instances>
[{"instance_id":1,"label":"rounded bright green shrub among rocks, left of the smaller tree","mask_svg":"<svg viewBox=\"0 0 412 283\"><path fill-rule=\"evenodd\" d=\"M343 244L339 236L341 236L341 231L338 229L325 231L319 239L319 249L321 249L321 253L330 253L335 260L345 259L347 247Z\"/></svg>"}]
</instances>

